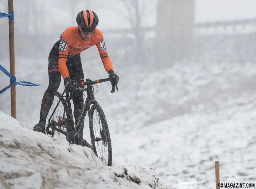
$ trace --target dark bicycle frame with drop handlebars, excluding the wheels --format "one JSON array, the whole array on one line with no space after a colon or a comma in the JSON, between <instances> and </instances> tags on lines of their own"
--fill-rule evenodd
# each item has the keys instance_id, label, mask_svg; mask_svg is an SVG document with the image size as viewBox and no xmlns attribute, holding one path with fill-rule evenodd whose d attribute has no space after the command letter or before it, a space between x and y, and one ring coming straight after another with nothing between
<instances>
[{"instance_id":1,"label":"dark bicycle frame with drop handlebars, excluding the wheels","mask_svg":"<svg viewBox=\"0 0 256 189\"><path fill-rule=\"evenodd\" d=\"M92 85L102 83L102 82L107 82L107 81L110 81L109 78L99 79L99 80L95 80L95 81L91 81L90 79L86 79L86 82L84 82L83 86L81 86L81 85L79 86L79 84L75 84L75 89L74 90L83 90L83 91L87 92L87 97L86 97L86 100L84 102L84 106L83 106L81 115L79 117L79 121L77 122L76 126L75 126L75 123L74 123L72 108L71 108L71 103L70 103L70 100L73 99L74 90L69 91L65 87L65 89L63 90L63 92L61 94L60 99L58 100L58 103L57 103L56 107L53 110L52 115L48 119L50 121L48 126L50 128L52 128L52 132L51 131L46 131L47 134L53 134L54 131L57 131L57 132L65 135L68 142L75 143L75 140L79 139L79 132L81 130L82 125L84 124L85 116L86 116L87 112L90 110L90 105L91 104L98 104L98 102L95 100L95 97L94 97ZM115 84L115 85L112 85L112 90L110 92L114 93L115 88L118 91L118 87ZM69 92L70 92L70 95L69 95ZM66 96L65 96L65 93L66 93ZM61 102L61 99L63 97L66 97L66 103L67 103L68 111L69 111L69 112L65 112L65 109L64 109L64 112L63 112L63 115L65 115L65 113L67 115L66 123L67 123L67 131L69 130L69 132L66 132L66 131L63 131L63 130L57 128L56 126L59 126L61 128L61 127L63 127L63 125L57 123L55 120L51 120L55 111L56 111L56 109L57 109L57 107L58 107L58 105L59 105L59 103Z\"/></svg>"}]
</instances>

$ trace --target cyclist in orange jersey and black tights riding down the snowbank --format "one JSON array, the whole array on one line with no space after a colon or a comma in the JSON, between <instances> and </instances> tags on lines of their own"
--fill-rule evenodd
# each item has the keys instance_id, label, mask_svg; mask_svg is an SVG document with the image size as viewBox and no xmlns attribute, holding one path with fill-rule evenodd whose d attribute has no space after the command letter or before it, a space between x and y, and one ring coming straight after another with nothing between
<instances>
[{"instance_id":1,"label":"cyclist in orange jersey and black tights riding down the snowbank","mask_svg":"<svg viewBox=\"0 0 256 189\"><path fill-rule=\"evenodd\" d=\"M108 52L106 51L105 41L102 32L97 29L99 18L94 11L82 10L76 16L78 26L69 27L60 34L59 40L54 44L48 56L48 77L49 84L44 92L39 123L33 128L33 131L42 132L45 134L46 117L54 100L54 93L60 85L61 76L64 80L64 85L69 90L74 89L74 82L84 83L84 73L80 53L86 49L95 46L98 48L103 66L109 74L109 79L112 85L118 83L118 76L114 73L114 68ZM114 79L113 79L113 76ZM83 91L74 91L74 118L75 124L83 108ZM81 129L81 145L91 147L90 144L83 139L83 127Z\"/></svg>"}]
</instances>

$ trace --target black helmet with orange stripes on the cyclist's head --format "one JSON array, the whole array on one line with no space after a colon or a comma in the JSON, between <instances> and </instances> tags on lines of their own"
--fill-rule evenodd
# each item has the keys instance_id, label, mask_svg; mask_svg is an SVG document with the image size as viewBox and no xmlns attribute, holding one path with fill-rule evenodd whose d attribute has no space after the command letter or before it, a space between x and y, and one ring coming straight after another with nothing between
<instances>
[{"instance_id":1,"label":"black helmet with orange stripes on the cyclist's head","mask_svg":"<svg viewBox=\"0 0 256 189\"><path fill-rule=\"evenodd\" d=\"M83 33L91 33L99 23L99 17L91 10L80 11L76 16L76 23Z\"/></svg>"}]
</instances>

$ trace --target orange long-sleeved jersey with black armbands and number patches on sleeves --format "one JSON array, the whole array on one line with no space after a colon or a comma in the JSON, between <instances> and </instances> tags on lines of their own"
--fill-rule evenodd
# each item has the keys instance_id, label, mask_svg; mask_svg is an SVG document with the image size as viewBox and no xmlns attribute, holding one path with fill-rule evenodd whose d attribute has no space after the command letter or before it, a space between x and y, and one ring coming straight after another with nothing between
<instances>
[{"instance_id":1,"label":"orange long-sleeved jersey with black armbands and number patches on sleeves","mask_svg":"<svg viewBox=\"0 0 256 189\"><path fill-rule=\"evenodd\" d=\"M101 31L96 28L93 36L88 41L86 41L82 39L78 30L78 27L74 26L67 28L62 33L59 45L58 65L63 79L69 76L68 68L66 65L68 55L74 56L94 45L96 45L98 48L105 70L107 72L111 69L114 70L112 62L108 56L108 52L106 51L105 41Z\"/></svg>"}]
</instances>

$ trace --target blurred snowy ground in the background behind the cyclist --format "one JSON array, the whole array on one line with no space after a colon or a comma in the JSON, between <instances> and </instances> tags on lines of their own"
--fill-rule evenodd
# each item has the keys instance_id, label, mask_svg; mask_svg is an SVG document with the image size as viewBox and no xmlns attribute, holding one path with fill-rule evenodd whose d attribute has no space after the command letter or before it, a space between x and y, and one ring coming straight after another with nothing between
<instances>
[{"instance_id":1,"label":"blurred snowy ground in the background behind the cyclist","mask_svg":"<svg viewBox=\"0 0 256 189\"><path fill-rule=\"evenodd\" d=\"M44 84L17 87L18 119L32 128L47 87L47 64L39 64L42 72L35 77L29 69L34 62L27 62L26 74L17 70L18 81ZM84 67L89 78L106 76L101 63L91 64L91 72L90 65ZM219 160L222 182L256 183L255 64L182 62L158 71L117 70L119 91L111 94L111 86L99 84L96 99L106 114L118 165L152 167L171 188L210 189ZM1 98L8 101L9 92Z\"/></svg>"}]
</instances>

